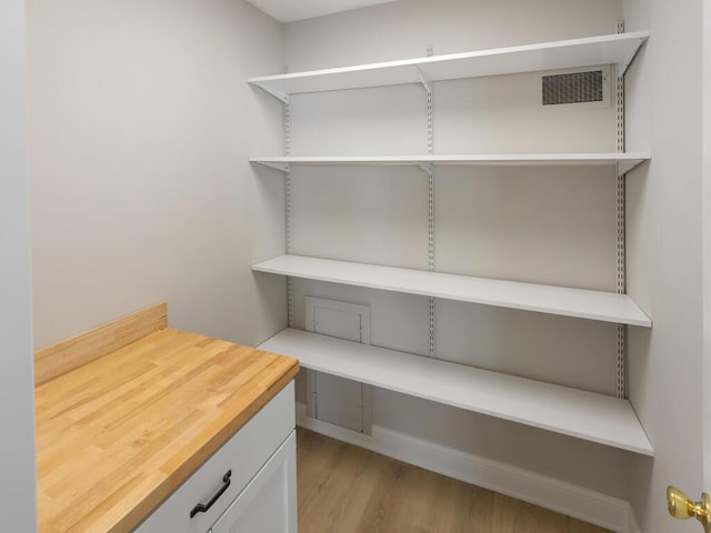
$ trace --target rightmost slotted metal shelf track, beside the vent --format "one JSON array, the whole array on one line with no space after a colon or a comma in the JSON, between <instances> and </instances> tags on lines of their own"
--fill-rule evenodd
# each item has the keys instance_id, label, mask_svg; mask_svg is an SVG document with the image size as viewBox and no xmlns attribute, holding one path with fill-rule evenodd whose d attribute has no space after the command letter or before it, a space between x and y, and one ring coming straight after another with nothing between
<instances>
[{"instance_id":1,"label":"rightmost slotted metal shelf track, beside the vent","mask_svg":"<svg viewBox=\"0 0 711 533\"><path fill-rule=\"evenodd\" d=\"M624 22L618 22L618 33L624 33ZM617 150L624 152L624 74L621 67L617 71ZM625 257L624 257L624 174L617 177L617 292L624 294L625 286ZM617 325L617 375L615 395L627 398L627 325Z\"/></svg>"}]
</instances>

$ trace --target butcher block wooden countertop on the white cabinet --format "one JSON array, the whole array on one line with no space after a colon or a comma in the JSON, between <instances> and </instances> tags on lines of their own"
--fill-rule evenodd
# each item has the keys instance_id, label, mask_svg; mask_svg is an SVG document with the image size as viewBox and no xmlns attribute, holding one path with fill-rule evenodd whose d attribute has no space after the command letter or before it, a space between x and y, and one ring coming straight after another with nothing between
<instances>
[{"instance_id":1,"label":"butcher block wooden countertop on the white cabinet","mask_svg":"<svg viewBox=\"0 0 711 533\"><path fill-rule=\"evenodd\" d=\"M297 371L164 328L38 384L39 531L130 531Z\"/></svg>"}]
</instances>

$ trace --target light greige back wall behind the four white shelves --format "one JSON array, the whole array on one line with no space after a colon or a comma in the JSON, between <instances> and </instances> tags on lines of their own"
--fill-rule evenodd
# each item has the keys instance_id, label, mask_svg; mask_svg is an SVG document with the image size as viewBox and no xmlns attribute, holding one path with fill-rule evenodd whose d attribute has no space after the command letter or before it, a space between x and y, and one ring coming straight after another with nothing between
<instances>
[{"instance_id":1,"label":"light greige back wall behind the four white shelves","mask_svg":"<svg viewBox=\"0 0 711 533\"><path fill-rule=\"evenodd\" d=\"M411 0L287 24L284 50L298 71L614 33L620 18L618 1ZM614 151L613 108L542 109L539 90L540 74L437 83L435 153ZM291 108L293 155L427 151L421 87L297 95ZM427 268L420 170L296 168L292 183L294 253ZM614 209L604 170L438 170L438 270L614 290ZM369 304L373 344L427 353L427 299L293 286L298 328L304 295ZM435 332L441 359L614 393L614 325L438 301ZM628 497L627 452L381 390L373 423Z\"/></svg>"}]
</instances>

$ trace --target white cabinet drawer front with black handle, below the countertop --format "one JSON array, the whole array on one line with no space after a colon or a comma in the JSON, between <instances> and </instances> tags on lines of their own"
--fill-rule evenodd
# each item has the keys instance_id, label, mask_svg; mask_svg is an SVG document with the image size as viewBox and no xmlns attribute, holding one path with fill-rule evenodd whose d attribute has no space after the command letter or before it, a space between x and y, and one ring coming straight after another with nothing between
<instances>
[{"instance_id":1,"label":"white cabinet drawer front with black handle, below the countertop","mask_svg":"<svg viewBox=\"0 0 711 533\"><path fill-rule=\"evenodd\" d=\"M292 381L158 506L134 533L204 533L294 426ZM231 476L227 490L207 512L191 519L190 512L197 504L209 502L220 491L228 471Z\"/></svg>"}]
</instances>

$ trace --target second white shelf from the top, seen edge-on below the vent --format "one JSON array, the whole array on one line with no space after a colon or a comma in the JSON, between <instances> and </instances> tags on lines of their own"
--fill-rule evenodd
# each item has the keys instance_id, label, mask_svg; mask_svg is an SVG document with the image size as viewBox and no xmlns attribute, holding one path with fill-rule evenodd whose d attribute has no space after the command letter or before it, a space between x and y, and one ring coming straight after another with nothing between
<instances>
[{"instance_id":1,"label":"second white shelf from the top, seen edge-on below the vent","mask_svg":"<svg viewBox=\"0 0 711 533\"><path fill-rule=\"evenodd\" d=\"M346 155L346 157L252 157L253 163L264 164L282 172L291 172L292 164L412 164L433 165L603 165L617 168L625 174L643 161L649 153L504 153L458 155Z\"/></svg>"}]
</instances>

